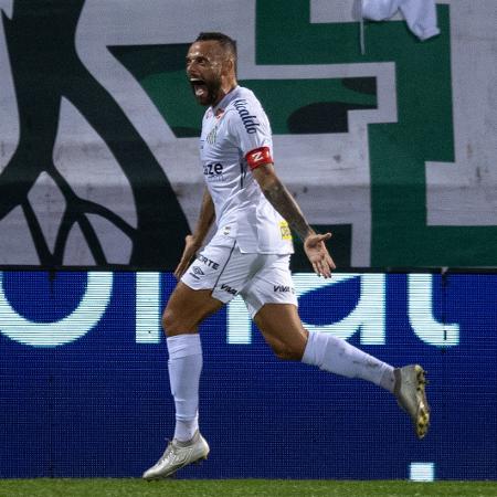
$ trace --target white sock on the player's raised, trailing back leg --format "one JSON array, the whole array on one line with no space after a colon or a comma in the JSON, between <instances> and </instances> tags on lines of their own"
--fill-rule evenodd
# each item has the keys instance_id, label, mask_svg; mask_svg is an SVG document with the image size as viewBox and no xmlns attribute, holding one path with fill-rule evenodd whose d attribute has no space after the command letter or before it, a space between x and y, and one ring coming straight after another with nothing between
<instances>
[{"instance_id":1,"label":"white sock on the player's raised, trailing back leg","mask_svg":"<svg viewBox=\"0 0 497 497\"><path fill-rule=\"evenodd\" d=\"M393 368L341 338L310 331L302 361L347 378L371 381L393 393Z\"/></svg>"}]
</instances>

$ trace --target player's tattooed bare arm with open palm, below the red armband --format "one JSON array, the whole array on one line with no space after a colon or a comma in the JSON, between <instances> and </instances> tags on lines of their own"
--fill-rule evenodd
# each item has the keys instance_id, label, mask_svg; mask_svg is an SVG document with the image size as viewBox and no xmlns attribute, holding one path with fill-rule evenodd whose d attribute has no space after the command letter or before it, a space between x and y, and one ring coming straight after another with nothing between
<instances>
[{"instance_id":1,"label":"player's tattooed bare arm with open palm, below the red armband","mask_svg":"<svg viewBox=\"0 0 497 497\"><path fill-rule=\"evenodd\" d=\"M304 241L304 250L316 274L325 278L331 277L331 271L336 266L325 245L331 233L315 233L295 199L276 176L272 163L253 169L252 175L269 203Z\"/></svg>"}]
</instances>

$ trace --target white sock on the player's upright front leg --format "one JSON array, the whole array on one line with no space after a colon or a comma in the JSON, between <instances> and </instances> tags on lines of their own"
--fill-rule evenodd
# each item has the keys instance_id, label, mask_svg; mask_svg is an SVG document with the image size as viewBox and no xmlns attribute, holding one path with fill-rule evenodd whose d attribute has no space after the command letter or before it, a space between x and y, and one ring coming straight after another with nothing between
<instances>
[{"instance_id":1,"label":"white sock on the player's upright front leg","mask_svg":"<svg viewBox=\"0 0 497 497\"><path fill-rule=\"evenodd\" d=\"M191 440L199 429L199 382L202 346L199 334L177 335L167 339L169 383L175 398L175 438Z\"/></svg>"}]
</instances>

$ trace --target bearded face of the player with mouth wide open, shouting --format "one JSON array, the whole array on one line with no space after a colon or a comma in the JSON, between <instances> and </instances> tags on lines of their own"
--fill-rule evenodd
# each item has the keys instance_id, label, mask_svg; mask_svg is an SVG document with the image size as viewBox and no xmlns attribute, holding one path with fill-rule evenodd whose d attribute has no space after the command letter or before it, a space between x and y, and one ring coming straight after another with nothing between
<instances>
[{"instance_id":1,"label":"bearded face of the player with mouth wide open, shouting","mask_svg":"<svg viewBox=\"0 0 497 497\"><path fill-rule=\"evenodd\" d=\"M187 54L187 76L200 105L220 102L224 53L215 41L194 42Z\"/></svg>"}]
</instances>

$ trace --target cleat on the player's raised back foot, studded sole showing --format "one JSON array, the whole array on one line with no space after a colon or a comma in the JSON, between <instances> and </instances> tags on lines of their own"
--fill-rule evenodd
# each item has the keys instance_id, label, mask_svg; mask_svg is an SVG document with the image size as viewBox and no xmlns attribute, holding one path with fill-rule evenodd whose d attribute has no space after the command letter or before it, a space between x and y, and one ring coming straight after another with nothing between
<instances>
[{"instance_id":1,"label":"cleat on the player's raised back foot, studded sole showing","mask_svg":"<svg viewBox=\"0 0 497 497\"><path fill-rule=\"evenodd\" d=\"M423 438L430 426L430 405L424 388L425 371L420 364L411 364L395 369L393 374L396 402L411 416L417 438Z\"/></svg>"}]
</instances>

